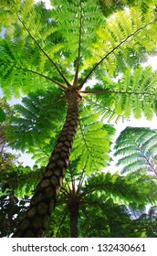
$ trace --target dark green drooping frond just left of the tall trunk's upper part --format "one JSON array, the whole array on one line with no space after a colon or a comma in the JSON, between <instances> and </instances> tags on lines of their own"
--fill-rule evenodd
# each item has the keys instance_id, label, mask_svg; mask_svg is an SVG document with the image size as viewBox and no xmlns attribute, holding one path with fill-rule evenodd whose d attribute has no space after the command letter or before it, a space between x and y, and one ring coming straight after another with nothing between
<instances>
[{"instance_id":1,"label":"dark green drooping frond just left of the tall trunk's upper part","mask_svg":"<svg viewBox=\"0 0 157 256\"><path fill-rule=\"evenodd\" d=\"M12 147L34 153L37 146L40 148L51 138L56 141L58 129L64 123L66 114L64 101L59 101L53 110L51 109L59 96L60 91L57 88L45 92L37 91L25 97L22 104L15 105L15 115L7 127L7 136Z\"/></svg>"}]
</instances>

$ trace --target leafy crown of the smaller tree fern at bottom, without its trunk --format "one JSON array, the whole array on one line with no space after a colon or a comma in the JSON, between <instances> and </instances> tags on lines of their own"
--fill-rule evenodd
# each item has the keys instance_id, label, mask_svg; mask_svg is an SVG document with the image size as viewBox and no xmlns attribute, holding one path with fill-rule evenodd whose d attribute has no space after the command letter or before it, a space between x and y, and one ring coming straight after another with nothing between
<instances>
[{"instance_id":1,"label":"leafy crown of the smaller tree fern at bottom, without its trunk","mask_svg":"<svg viewBox=\"0 0 157 256\"><path fill-rule=\"evenodd\" d=\"M111 230L113 232L110 234L110 236L115 237L118 230L113 228L113 231L111 227L117 227L118 223L120 224L120 222L122 222L123 224L125 223L126 226L129 225L129 229L131 229L130 224L131 219L133 218L132 207L134 209L134 212L136 211L136 214L137 212L142 214L141 209L144 208L144 203L142 202L142 200L144 199L143 197L146 196L144 196L145 192L141 192L141 189L139 189L140 187L136 187L135 183L128 183L127 179L125 180L125 177L119 176L118 174L111 176L110 173L107 173L84 178L85 183L81 184L80 174L77 175L74 169L71 169L71 171L68 173L66 183L58 199L58 208L56 208L55 215L53 217L55 223L59 221L60 224L56 225L56 228L54 229L53 224L50 223L48 232L50 232L50 229L54 229L54 237L62 237L65 236L63 234L65 231L67 231L66 237L69 236L69 210L68 207L65 208L63 207L63 205L68 206L68 204L72 200L76 200L76 202L79 202L79 237L81 237L82 234L86 236L85 230L88 230L88 237L91 236L91 234L93 234L94 232L96 237L106 237L107 227L109 229L109 232L111 232ZM151 186L153 182L149 182L147 180L147 182L145 183L147 183L147 186L148 184L149 186ZM140 194L136 194L138 193L138 190L140 191L141 196ZM145 198L146 200L149 200L147 196ZM122 204L122 202L126 203L126 201L128 202L127 207ZM59 218L58 215L60 216ZM104 217L103 221L102 216ZM62 217L64 217L65 221L63 221ZM136 219L138 219L138 217ZM125 225L124 227L126 228ZM89 230L89 227L91 230ZM129 235L129 230L127 231L124 227L120 230L121 234L126 237L129 237L130 235L133 236L133 229L131 229L131 234ZM141 229L138 229L139 237ZM117 236L119 235L117 234Z\"/></svg>"}]
</instances>

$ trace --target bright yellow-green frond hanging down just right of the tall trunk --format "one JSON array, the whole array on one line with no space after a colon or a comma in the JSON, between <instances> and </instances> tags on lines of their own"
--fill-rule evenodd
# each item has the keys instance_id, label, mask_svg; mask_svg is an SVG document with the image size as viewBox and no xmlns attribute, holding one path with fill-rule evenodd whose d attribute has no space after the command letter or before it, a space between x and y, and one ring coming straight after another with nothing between
<instances>
[{"instance_id":1,"label":"bright yellow-green frond hanging down just right of the tall trunk","mask_svg":"<svg viewBox=\"0 0 157 256\"><path fill-rule=\"evenodd\" d=\"M111 125L106 126L100 123L97 114L85 115L87 111L86 108L81 112L79 129L70 160L78 159L78 170L85 168L86 173L89 174L108 164L110 160L108 153L114 129Z\"/></svg>"}]
</instances>

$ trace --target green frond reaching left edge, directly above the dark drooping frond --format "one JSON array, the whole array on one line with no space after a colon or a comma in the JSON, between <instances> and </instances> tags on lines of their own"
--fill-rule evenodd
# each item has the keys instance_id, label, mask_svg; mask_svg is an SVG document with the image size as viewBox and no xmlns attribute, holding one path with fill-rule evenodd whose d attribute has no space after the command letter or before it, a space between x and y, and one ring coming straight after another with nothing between
<instances>
[{"instance_id":1,"label":"green frond reaching left edge, directly above the dark drooping frond","mask_svg":"<svg viewBox=\"0 0 157 256\"><path fill-rule=\"evenodd\" d=\"M42 73L43 61L40 62L40 53L37 48L33 51L17 53L18 46L15 51L15 48L12 48L13 43L2 38L1 42L0 48L3 55L0 56L0 82L6 98L18 97L21 91L27 94L41 90L47 88L50 82L52 83L52 75L48 78L46 69L45 74ZM32 68L33 62L36 64L34 68Z\"/></svg>"}]
</instances>

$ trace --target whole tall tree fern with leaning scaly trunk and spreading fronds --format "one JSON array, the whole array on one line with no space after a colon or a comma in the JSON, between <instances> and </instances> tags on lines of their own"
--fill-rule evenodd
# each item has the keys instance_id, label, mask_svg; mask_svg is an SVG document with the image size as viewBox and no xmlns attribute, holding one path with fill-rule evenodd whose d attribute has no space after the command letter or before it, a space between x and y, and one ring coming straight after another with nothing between
<instances>
[{"instance_id":1,"label":"whole tall tree fern with leaning scaly trunk and spreading fronds","mask_svg":"<svg viewBox=\"0 0 157 256\"><path fill-rule=\"evenodd\" d=\"M129 2L121 3L116 10ZM143 112L151 119L156 112L156 79L150 85L156 74L151 69L139 69L141 79L137 81L137 70L136 79L133 79L137 65L156 51L154 2L149 4L145 1L144 8L139 2L136 4L133 1L133 5L129 5L131 7L114 12L113 15L112 2L110 15L104 15L101 9L103 3L99 5L99 1L52 0L51 4L53 8L47 10L43 3L34 5L33 1L29 3L27 0L3 1L5 8L0 13L1 20L6 16L5 35L0 39L2 89L6 97L17 97L21 92L29 94L22 106L16 106L16 116L10 125L12 127L8 127L12 145L34 152L40 147L43 151L47 142L54 146L52 136L56 140L60 124L64 122L65 109L68 109L66 123L30 204L30 215L34 203L37 208L37 214L33 217L35 222L29 214L26 215L28 225L25 230L23 225L20 226L17 237L44 236L46 222L56 204L68 167L77 129L71 160L79 157L79 170L86 167L88 173L90 170L96 172L109 159L113 132L110 126L105 126L101 121L105 118L118 120L121 116L128 118L132 112L136 118L141 117ZM120 72L122 79L115 81ZM91 78L98 80L96 87L99 87L99 91L95 91L95 87L86 90L86 83ZM133 85L132 80L135 80ZM42 94L46 96L44 99L40 98ZM35 95L37 100L34 99ZM131 95L131 99L128 95ZM64 99L68 108L64 101L60 102ZM82 104L79 104L80 101ZM88 104L93 105L93 109ZM128 106L129 110L126 111ZM54 111L49 107L53 107ZM91 114L92 111L96 112ZM93 130L91 127L88 130L88 125ZM47 193L47 189L51 192ZM47 206L40 208L40 203ZM44 210L47 212L46 219ZM37 219L40 219L42 230L34 225Z\"/></svg>"}]
</instances>

